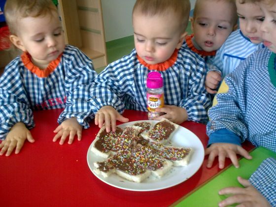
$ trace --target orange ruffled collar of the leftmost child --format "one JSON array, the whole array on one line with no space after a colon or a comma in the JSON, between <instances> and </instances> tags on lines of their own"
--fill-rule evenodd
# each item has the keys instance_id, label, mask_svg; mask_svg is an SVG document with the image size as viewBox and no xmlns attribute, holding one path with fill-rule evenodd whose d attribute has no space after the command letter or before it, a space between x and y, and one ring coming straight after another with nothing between
<instances>
[{"instance_id":1,"label":"orange ruffled collar of the leftmost child","mask_svg":"<svg viewBox=\"0 0 276 207\"><path fill-rule=\"evenodd\" d=\"M32 63L31 56L24 52L21 55L22 62L24 66L30 70L31 72L35 73L38 77L47 77L51 72L53 72L57 66L60 64L62 54L59 55L59 57L56 60L53 60L46 69L39 69L37 66L35 66Z\"/></svg>"}]
</instances>

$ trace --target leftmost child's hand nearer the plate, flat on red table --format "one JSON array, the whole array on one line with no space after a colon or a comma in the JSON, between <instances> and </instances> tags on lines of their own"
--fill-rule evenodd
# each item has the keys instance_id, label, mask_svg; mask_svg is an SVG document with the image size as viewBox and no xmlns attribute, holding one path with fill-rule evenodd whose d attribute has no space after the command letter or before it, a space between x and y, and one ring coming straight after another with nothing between
<instances>
[{"instance_id":1,"label":"leftmost child's hand nearer the plate, flat on red table","mask_svg":"<svg viewBox=\"0 0 276 207\"><path fill-rule=\"evenodd\" d=\"M65 139L69 136L68 143L71 144L74 140L75 135L77 135L78 140L81 140L82 126L77 122L75 117L69 118L61 123L55 130L57 133L53 138L53 141L60 140L60 144L63 144Z\"/></svg>"}]
</instances>

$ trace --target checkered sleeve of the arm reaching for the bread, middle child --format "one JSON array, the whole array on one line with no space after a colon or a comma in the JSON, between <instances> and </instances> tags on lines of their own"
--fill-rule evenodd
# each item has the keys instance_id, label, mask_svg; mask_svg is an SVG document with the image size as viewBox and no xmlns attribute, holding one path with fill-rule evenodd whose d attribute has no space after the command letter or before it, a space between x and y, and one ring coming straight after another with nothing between
<instances>
[{"instance_id":1,"label":"checkered sleeve of the arm reaching for the bread, middle child","mask_svg":"<svg viewBox=\"0 0 276 207\"><path fill-rule=\"evenodd\" d=\"M91 90L91 108L94 114L105 105L123 113L126 105L124 96L132 90L135 52L109 64L96 78Z\"/></svg>"}]
</instances>

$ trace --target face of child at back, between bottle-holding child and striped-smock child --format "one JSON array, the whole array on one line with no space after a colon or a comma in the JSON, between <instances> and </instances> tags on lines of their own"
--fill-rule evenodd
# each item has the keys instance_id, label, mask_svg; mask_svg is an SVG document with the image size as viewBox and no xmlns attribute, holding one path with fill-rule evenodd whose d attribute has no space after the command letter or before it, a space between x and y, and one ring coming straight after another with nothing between
<instances>
[{"instance_id":1,"label":"face of child at back, between bottle-holding child and striped-smock child","mask_svg":"<svg viewBox=\"0 0 276 207\"><path fill-rule=\"evenodd\" d=\"M195 19L192 19L192 30L200 49L211 52L217 50L233 31L233 11L224 1L201 1Z\"/></svg>"}]
</instances>

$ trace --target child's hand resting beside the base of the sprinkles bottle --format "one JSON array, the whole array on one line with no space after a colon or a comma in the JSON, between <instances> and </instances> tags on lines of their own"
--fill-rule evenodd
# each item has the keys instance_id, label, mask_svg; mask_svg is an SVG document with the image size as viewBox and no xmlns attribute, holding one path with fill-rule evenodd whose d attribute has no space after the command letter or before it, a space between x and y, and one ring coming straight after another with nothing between
<instances>
[{"instance_id":1,"label":"child's hand resting beside the base of the sprinkles bottle","mask_svg":"<svg viewBox=\"0 0 276 207\"><path fill-rule=\"evenodd\" d=\"M188 119L188 114L185 108L179 106L164 105L162 108L156 108L156 111L166 114L156 117L154 120L161 120L162 118L166 118L175 124L181 124Z\"/></svg>"}]
</instances>

